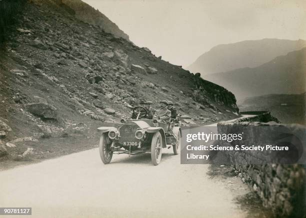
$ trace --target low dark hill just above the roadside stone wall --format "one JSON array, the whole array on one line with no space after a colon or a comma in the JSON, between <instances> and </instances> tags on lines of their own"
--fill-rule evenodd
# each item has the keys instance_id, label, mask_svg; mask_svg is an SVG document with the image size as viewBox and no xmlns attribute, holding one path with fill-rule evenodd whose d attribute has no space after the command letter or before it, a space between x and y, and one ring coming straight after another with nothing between
<instances>
[{"instance_id":1,"label":"low dark hill just above the roadside stone wall","mask_svg":"<svg viewBox=\"0 0 306 218\"><path fill-rule=\"evenodd\" d=\"M306 124L306 93L299 95L263 95L238 102L240 111L271 112L282 123Z\"/></svg>"}]
</instances>

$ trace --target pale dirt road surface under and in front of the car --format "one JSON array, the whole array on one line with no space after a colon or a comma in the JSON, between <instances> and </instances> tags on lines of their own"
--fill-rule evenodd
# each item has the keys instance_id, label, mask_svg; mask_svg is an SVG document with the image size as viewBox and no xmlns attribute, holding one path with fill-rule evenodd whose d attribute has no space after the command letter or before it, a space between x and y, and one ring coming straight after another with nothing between
<instances>
[{"instance_id":1,"label":"pale dirt road surface under and in front of the car","mask_svg":"<svg viewBox=\"0 0 306 218\"><path fill-rule=\"evenodd\" d=\"M103 165L91 149L0 172L0 207L31 207L35 218L246 217L234 203L246 186L209 179L208 167L181 165L172 149L158 166L150 154L114 155Z\"/></svg>"}]
</instances>

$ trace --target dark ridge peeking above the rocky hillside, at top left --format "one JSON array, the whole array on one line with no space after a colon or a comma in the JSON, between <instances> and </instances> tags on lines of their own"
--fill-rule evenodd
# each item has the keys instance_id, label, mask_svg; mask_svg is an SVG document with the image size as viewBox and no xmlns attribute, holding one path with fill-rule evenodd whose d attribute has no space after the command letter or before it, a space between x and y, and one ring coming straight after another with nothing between
<instances>
[{"instance_id":1,"label":"dark ridge peeking above the rocky hillside, at top left","mask_svg":"<svg viewBox=\"0 0 306 218\"><path fill-rule=\"evenodd\" d=\"M56 0L61 1L62 5L71 8L75 17L78 19L93 25L100 26L105 32L111 33L116 37L121 37L129 40L127 34L125 34L119 27L109 20L104 14L91 7L89 4L81 0Z\"/></svg>"}]
</instances>

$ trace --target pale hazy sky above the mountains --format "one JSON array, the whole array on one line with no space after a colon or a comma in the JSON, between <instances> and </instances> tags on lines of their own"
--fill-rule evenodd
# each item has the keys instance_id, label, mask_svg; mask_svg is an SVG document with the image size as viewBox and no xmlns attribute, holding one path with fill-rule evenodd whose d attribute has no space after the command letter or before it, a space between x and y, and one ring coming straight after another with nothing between
<instances>
[{"instance_id":1,"label":"pale hazy sky above the mountains","mask_svg":"<svg viewBox=\"0 0 306 218\"><path fill-rule=\"evenodd\" d=\"M306 39L306 0L83 0L132 42L184 67L215 45Z\"/></svg>"}]
</instances>

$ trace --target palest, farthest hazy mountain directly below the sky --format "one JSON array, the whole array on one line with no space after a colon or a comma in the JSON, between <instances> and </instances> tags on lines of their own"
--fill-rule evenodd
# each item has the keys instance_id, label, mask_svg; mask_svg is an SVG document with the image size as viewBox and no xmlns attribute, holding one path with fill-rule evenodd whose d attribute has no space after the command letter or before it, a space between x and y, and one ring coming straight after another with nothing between
<instances>
[{"instance_id":1,"label":"palest, farthest hazy mountain directly below the sky","mask_svg":"<svg viewBox=\"0 0 306 218\"><path fill-rule=\"evenodd\" d=\"M226 72L243 67L256 67L276 56L306 46L305 40L261 39L221 44L199 56L188 70L201 75Z\"/></svg>"}]
</instances>

